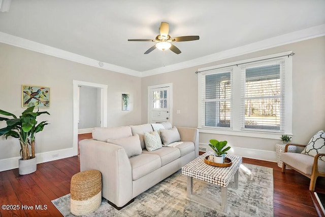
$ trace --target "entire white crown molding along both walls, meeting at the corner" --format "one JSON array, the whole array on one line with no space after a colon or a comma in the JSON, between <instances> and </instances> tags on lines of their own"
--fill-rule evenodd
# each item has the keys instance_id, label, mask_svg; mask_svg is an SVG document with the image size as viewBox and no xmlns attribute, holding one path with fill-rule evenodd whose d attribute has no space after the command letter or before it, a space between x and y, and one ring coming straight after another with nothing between
<instances>
[{"instance_id":1,"label":"entire white crown molding along both walls, meeting at the corner","mask_svg":"<svg viewBox=\"0 0 325 217\"><path fill-rule=\"evenodd\" d=\"M47 54L50 56L58 57L61 59L66 59L74 62L78 62L81 64L93 66L93 67L98 67L110 71L115 71L117 73L122 73L126 75L131 75L131 76L136 76L136 77L147 77L147 76L152 76L152 75L158 75L162 73L168 73L169 71L175 71L175 70L180 70L184 68L189 68L193 66L200 66L203 64L207 64L210 62L215 62L219 61L222 59L227 59L235 56L240 56L256 51L261 51L273 47L278 47L281 45L286 45L286 44L291 44L295 42L300 42L308 39L313 39L317 37L321 37L325 35L325 24L306 28L303 30L295 31L295 32L290 32L287 34L279 35L277 37L273 37L270 39L266 39L263 41L255 42L252 44L244 45L241 47L229 49L226 51L221 51L215 54L211 54L208 56L203 56L197 59L192 59L184 62L180 62L177 64L173 65L167 65L164 67L160 68L154 68L151 70L147 71L136 71L133 69L125 68L122 66L118 65L113 65L110 63L103 62L100 66L100 61L91 59L88 57L81 56L79 54L71 53L68 51L64 51L61 49L53 48L47 45L43 45L37 42L33 42L30 40L26 40L20 37L16 37L11 34L7 34L4 32L0 32L0 42L5 43L8 45L12 45L15 47L20 47L24 48L27 50Z\"/></svg>"}]
</instances>

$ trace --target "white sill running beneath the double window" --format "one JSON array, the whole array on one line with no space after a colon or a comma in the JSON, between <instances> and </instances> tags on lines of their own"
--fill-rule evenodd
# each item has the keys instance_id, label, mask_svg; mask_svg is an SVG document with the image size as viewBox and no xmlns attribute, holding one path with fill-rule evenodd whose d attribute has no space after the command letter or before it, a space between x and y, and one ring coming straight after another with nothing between
<instances>
[{"instance_id":1,"label":"white sill running beneath the double window","mask_svg":"<svg viewBox=\"0 0 325 217\"><path fill-rule=\"evenodd\" d=\"M275 132L257 132L257 131L243 131L243 130L229 130L229 129L211 129L211 128L198 128L200 133L222 134L222 135L235 135L246 136L255 138L269 138L279 140L282 134L292 135L290 133L275 133Z\"/></svg>"}]
</instances>

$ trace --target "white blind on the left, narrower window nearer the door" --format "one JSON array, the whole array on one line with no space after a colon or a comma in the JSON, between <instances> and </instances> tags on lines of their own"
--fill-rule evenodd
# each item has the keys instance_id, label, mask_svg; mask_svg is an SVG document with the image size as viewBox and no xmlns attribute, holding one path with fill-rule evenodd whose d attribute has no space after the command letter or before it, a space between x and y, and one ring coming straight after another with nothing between
<instances>
[{"instance_id":1,"label":"white blind on the left, narrower window nearer the door","mask_svg":"<svg viewBox=\"0 0 325 217\"><path fill-rule=\"evenodd\" d=\"M205 127L230 127L232 82L231 70L201 77L202 124Z\"/></svg>"}]
</instances>

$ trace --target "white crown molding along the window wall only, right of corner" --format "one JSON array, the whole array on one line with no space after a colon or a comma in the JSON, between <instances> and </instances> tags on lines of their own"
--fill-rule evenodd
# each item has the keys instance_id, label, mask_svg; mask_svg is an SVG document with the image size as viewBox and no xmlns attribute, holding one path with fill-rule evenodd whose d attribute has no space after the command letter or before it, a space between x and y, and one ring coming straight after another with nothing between
<instances>
[{"instance_id":1,"label":"white crown molding along the window wall only, right of corner","mask_svg":"<svg viewBox=\"0 0 325 217\"><path fill-rule=\"evenodd\" d=\"M219 61L222 59L228 59L231 57L236 57L256 51L261 51L273 47L278 47L281 45L291 44L295 42L300 42L308 39L313 39L325 35L325 24L306 28L299 31L290 32L287 34L279 35L270 39L255 42L252 44L244 45L241 47L221 51L219 53L211 54L208 56L203 56L197 59L188 60L185 62L167 65L160 68L155 68L147 71L142 71L141 77L147 77L162 73L167 73L169 71L180 70L183 68L189 68L193 66L199 66L210 62Z\"/></svg>"}]
</instances>

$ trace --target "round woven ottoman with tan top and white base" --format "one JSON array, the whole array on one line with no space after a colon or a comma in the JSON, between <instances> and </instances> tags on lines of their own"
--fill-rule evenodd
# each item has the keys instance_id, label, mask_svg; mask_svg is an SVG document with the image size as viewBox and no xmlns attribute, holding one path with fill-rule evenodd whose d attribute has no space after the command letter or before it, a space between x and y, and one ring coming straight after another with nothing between
<instances>
[{"instance_id":1,"label":"round woven ottoman with tan top and white base","mask_svg":"<svg viewBox=\"0 0 325 217\"><path fill-rule=\"evenodd\" d=\"M74 174L70 186L70 209L74 215L89 214L102 203L102 174L98 170L86 170Z\"/></svg>"}]
</instances>

